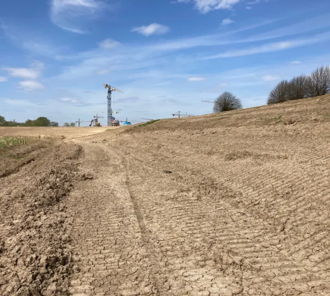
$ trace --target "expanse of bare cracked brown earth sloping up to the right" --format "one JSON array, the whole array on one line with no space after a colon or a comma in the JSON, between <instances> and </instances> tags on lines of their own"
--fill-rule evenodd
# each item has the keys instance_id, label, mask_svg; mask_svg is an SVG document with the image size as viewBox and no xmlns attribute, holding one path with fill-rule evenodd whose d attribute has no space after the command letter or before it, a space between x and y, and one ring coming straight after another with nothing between
<instances>
[{"instance_id":1,"label":"expanse of bare cracked brown earth sloping up to the right","mask_svg":"<svg viewBox=\"0 0 330 296\"><path fill-rule=\"evenodd\" d=\"M330 295L330 96L47 141L0 177L0 295Z\"/></svg>"}]
</instances>

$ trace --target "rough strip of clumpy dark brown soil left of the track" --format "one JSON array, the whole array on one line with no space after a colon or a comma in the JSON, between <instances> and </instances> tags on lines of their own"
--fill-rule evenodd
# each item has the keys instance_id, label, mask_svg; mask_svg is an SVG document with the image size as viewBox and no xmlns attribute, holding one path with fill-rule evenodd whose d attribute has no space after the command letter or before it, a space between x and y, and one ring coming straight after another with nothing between
<instances>
[{"instance_id":1,"label":"rough strip of clumpy dark brown soil left of the track","mask_svg":"<svg viewBox=\"0 0 330 296\"><path fill-rule=\"evenodd\" d=\"M51 139L0 151L0 295L67 295L79 145Z\"/></svg>"}]
</instances>

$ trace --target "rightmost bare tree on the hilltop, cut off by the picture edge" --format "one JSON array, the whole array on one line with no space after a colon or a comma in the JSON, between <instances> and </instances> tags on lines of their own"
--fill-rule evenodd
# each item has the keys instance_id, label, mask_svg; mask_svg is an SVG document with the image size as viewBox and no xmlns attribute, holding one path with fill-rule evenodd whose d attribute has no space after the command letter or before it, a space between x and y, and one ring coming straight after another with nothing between
<instances>
[{"instance_id":1,"label":"rightmost bare tree on the hilltop, cut off by the picture edge","mask_svg":"<svg viewBox=\"0 0 330 296\"><path fill-rule=\"evenodd\" d=\"M306 93L310 98L330 93L330 67L317 68L307 78Z\"/></svg>"}]
</instances>

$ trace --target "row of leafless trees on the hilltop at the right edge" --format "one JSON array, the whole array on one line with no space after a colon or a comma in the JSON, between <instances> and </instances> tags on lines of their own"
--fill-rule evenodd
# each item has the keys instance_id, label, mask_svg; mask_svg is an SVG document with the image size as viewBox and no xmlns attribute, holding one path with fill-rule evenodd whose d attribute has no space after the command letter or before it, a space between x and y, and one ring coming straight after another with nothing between
<instances>
[{"instance_id":1,"label":"row of leafless trees on the hilltop at the right edge","mask_svg":"<svg viewBox=\"0 0 330 296\"><path fill-rule=\"evenodd\" d=\"M267 104L314 98L330 94L330 67L319 67L312 74L301 74L280 81L269 93Z\"/></svg>"}]
</instances>

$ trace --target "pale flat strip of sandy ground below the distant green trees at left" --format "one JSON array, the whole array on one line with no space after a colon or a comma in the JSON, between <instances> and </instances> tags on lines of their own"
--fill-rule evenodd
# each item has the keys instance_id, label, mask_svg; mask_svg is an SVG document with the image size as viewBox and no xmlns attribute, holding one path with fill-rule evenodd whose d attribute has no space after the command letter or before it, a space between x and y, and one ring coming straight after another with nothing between
<instances>
[{"instance_id":1,"label":"pale flat strip of sandy ground below the distant green trees at left","mask_svg":"<svg viewBox=\"0 0 330 296\"><path fill-rule=\"evenodd\" d=\"M1 127L1 136L41 136L41 137L61 137L67 139L85 137L102 133L107 129L117 127L99 126L99 127Z\"/></svg>"}]
</instances>

